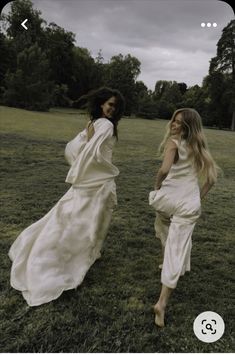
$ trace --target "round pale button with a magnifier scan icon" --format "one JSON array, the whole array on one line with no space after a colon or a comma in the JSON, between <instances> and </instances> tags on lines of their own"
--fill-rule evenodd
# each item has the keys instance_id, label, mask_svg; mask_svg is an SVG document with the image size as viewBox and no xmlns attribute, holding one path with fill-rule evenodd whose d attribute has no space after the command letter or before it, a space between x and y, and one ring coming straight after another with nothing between
<instances>
[{"instance_id":1,"label":"round pale button with a magnifier scan icon","mask_svg":"<svg viewBox=\"0 0 235 355\"><path fill-rule=\"evenodd\" d=\"M204 343L213 343L224 334L223 318L216 312L200 313L193 323L193 331L196 337Z\"/></svg>"}]
</instances>

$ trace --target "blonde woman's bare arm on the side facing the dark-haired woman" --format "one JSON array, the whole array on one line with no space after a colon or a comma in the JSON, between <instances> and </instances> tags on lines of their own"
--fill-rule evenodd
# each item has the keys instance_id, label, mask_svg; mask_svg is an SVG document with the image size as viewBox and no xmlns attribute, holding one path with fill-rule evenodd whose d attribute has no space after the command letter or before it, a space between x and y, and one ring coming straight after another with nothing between
<instances>
[{"instance_id":1,"label":"blonde woman's bare arm on the side facing the dark-haired woman","mask_svg":"<svg viewBox=\"0 0 235 355\"><path fill-rule=\"evenodd\" d=\"M171 139L168 140L165 148L165 154L163 157L163 162L158 170L156 182L155 182L155 189L159 190L161 188L163 180L167 177L172 164L174 163L175 155L177 152L177 145Z\"/></svg>"}]
</instances>

